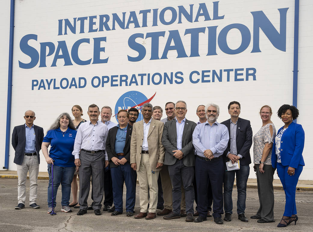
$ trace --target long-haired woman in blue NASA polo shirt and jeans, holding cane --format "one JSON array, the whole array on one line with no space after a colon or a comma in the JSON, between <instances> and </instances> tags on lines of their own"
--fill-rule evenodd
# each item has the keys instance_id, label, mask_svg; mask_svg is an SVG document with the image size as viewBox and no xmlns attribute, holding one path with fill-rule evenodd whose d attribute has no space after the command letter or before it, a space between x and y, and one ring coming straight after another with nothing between
<instances>
[{"instance_id":1,"label":"long-haired woman in blue NASA polo shirt and jeans, holding cane","mask_svg":"<svg viewBox=\"0 0 313 232\"><path fill-rule=\"evenodd\" d=\"M51 213L52 207L56 206L55 198L60 184L62 185L61 211L72 212L69 208L69 198L75 171L74 156L72 155L75 137L75 126L68 113L62 113L44 137L41 149L48 164L49 173L48 213ZM49 145L51 148L48 154ZM53 202L51 164L53 164Z\"/></svg>"}]
</instances>

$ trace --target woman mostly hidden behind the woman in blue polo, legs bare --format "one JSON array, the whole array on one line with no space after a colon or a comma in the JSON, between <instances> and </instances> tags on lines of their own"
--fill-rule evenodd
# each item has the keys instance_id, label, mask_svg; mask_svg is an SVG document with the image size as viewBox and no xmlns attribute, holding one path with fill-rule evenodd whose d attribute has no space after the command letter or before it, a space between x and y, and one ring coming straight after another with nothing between
<instances>
[{"instance_id":1,"label":"woman mostly hidden behind the woman in blue polo, legs bare","mask_svg":"<svg viewBox=\"0 0 313 232\"><path fill-rule=\"evenodd\" d=\"M87 121L81 117L81 116L83 116L83 109L79 105L74 105L72 107L72 114L74 116L73 124L75 126L76 131L77 131L79 126L82 123L87 122ZM72 181L73 201L71 202L71 204L69 204L69 207L74 207L75 209L80 208L80 205L78 204L78 200L77 200L77 191L78 191L77 177L79 179L78 170L75 170L74 176L73 176L73 181Z\"/></svg>"}]
</instances>

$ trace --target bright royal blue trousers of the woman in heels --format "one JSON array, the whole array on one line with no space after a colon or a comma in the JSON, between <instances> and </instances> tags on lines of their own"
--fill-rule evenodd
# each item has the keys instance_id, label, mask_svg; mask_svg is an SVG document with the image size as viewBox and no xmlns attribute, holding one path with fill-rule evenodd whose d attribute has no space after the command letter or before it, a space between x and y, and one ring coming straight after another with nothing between
<instances>
[{"instance_id":1,"label":"bright royal blue trousers of the woman in heels","mask_svg":"<svg viewBox=\"0 0 313 232\"><path fill-rule=\"evenodd\" d=\"M287 173L289 166L283 166L281 163L276 163L276 167L280 182L283 185L286 195L284 216L291 217L292 214L297 214L297 208L295 206L295 190L303 166L298 165L293 176L290 176Z\"/></svg>"}]
</instances>

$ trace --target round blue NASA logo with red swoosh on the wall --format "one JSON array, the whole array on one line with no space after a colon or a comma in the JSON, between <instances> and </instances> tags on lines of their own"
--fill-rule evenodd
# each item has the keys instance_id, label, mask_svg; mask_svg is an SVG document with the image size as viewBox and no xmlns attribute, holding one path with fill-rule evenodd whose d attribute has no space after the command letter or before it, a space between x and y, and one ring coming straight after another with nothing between
<instances>
[{"instance_id":1,"label":"round blue NASA logo with red swoosh on the wall","mask_svg":"<svg viewBox=\"0 0 313 232\"><path fill-rule=\"evenodd\" d=\"M130 108L137 108L139 111L139 115L137 118L137 122L142 120L142 114L141 114L141 107L144 103L150 102L156 93L153 94L151 98L147 98L146 95L144 95L141 92L138 91L129 91L124 93L116 102L115 105L115 119L117 120L117 113L121 109L129 110Z\"/></svg>"}]
</instances>

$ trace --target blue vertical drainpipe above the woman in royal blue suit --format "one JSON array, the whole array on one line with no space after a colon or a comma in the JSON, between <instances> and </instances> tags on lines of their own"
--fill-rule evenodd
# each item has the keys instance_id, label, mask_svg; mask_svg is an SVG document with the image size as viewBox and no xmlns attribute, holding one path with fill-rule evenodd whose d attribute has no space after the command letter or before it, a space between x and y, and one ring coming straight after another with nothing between
<instances>
[{"instance_id":1,"label":"blue vertical drainpipe above the woman in royal blue suit","mask_svg":"<svg viewBox=\"0 0 313 232\"><path fill-rule=\"evenodd\" d=\"M299 0L295 0L295 29L294 29L294 69L293 69L293 90L292 105L297 107L298 98L298 52L299 52ZM297 122L297 119L294 120Z\"/></svg>"}]
</instances>

